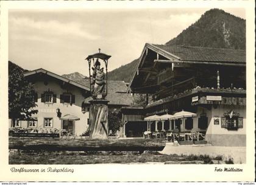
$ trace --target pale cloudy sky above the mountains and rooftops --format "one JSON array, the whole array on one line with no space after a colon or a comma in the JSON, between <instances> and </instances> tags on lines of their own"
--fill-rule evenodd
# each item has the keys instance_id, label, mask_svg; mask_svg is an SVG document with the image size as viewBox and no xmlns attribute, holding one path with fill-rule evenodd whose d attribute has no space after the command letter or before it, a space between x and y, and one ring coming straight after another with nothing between
<instances>
[{"instance_id":1,"label":"pale cloudy sky above the mountains and rooftops","mask_svg":"<svg viewBox=\"0 0 256 185\"><path fill-rule=\"evenodd\" d=\"M88 55L112 55L108 71L165 44L210 9L9 10L9 60L24 69L88 76ZM222 9L246 18L244 9Z\"/></svg>"}]
</instances>

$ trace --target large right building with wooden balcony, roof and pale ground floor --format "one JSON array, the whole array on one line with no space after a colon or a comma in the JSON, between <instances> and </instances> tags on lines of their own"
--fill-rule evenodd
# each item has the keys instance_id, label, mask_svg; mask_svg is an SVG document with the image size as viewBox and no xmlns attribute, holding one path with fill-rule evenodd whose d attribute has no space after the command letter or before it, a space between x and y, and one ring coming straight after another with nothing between
<instances>
[{"instance_id":1,"label":"large right building with wooden balcony, roof and pale ground floor","mask_svg":"<svg viewBox=\"0 0 256 185\"><path fill-rule=\"evenodd\" d=\"M246 51L146 44L127 92L149 97L144 116L196 113L151 122L151 131L205 134L213 145L246 145ZM155 125L157 124L157 125Z\"/></svg>"}]
</instances>

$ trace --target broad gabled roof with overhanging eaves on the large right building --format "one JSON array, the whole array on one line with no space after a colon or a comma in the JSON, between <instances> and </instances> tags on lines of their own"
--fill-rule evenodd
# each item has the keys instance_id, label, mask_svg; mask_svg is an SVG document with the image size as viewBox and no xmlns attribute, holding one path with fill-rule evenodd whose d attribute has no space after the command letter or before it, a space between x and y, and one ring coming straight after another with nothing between
<instances>
[{"instance_id":1,"label":"broad gabled roof with overhanging eaves on the large right building","mask_svg":"<svg viewBox=\"0 0 256 185\"><path fill-rule=\"evenodd\" d=\"M155 77L156 74L154 72L157 73L157 71L154 71L154 69L158 63L162 65L162 68L170 68L171 65L175 68L175 65L181 63L244 68L246 66L246 50L146 43L141 52L137 68L133 71L132 80L130 80L127 92L131 87L137 86L136 88L138 88L138 85L145 83L150 76ZM134 84L136 85L133 86ZM152 88L153 85L155 84L144 85L143 88L149 86L153 93L155 92L155 88ZM135 92L134 89L133 92Z\"/></svg>"}]
</instances>

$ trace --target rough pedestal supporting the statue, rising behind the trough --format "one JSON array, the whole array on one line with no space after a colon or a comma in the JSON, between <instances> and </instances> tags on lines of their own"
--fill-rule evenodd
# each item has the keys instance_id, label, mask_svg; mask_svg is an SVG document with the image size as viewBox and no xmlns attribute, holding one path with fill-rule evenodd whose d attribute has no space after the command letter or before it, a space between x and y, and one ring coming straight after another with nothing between
<instances>
[{"instance_id":1,"label":"rough pedestal supporting the statue, rising behind the trough","mask_svg":"<svg viewBox=\"0 0 256 185\"><path fill-rule=\"evenodd\" d=\"M108 100L91 100L89 130L90 139L108 138Z\"/></svg>"}]
</instances>

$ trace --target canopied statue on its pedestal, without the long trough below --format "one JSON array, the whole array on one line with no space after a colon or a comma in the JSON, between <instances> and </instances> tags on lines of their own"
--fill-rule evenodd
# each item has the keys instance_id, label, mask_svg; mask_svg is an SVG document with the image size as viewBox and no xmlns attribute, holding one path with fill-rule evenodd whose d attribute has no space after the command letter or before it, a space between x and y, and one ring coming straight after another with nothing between
<instances>
[{"instance_id":1,"label":"canopied statue on its pedestal, without the long trough below","mask_svg":"<svg viewBox=\"0 0 256 185\"><path fill-rule=\"evenodd\" d=\"M90 92L93 100L90 101L89 130L90 139L108 138L108 100L107 96L107 65L110 55L99 52L88 55L85 60L89 66ZM105 65L102 67L102 63ZM92 74L91 74L92 70Z\"/></svg>"}]
</instances>

